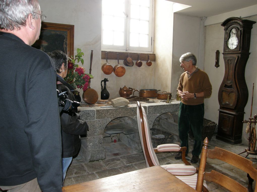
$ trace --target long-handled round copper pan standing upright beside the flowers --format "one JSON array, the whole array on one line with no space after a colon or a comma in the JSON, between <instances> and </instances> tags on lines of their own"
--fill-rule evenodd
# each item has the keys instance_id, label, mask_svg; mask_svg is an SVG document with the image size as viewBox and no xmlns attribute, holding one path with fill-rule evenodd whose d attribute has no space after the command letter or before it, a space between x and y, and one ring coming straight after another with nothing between
<instances>
[{"instance_id":1,"label":"long-handled round copper pan standing upright beside the flowers","mask_svg":"<svg viewBox=\"0 0 257 192\"><path fill-rule=\"evenodd\" d=\"M91 55L90 55L90 69L89 69L90 74L92 70L92 60L93 60L93 50L91 50ZM98 94L96 90L90 88L90 82L91 82L91 79L88 84L88 89L83 92L82 98L87 104L94 104L98 100Z\"/></svg>"}]
</instances>

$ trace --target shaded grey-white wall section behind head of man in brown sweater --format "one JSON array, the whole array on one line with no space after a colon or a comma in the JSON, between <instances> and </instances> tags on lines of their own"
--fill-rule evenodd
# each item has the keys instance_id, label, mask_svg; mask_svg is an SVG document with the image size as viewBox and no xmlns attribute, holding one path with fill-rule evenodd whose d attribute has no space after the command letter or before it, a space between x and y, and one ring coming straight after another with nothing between
<instances>
[{"instance_id":1,"label":"shaded grey-white wall section behind head of man in brown sweater","mask_svg":"<svg viewBox=\"0 0 257 192\"><path fill-rule=\"evenodd\" d=\"M171 71L171 92L173 92L174 97L177 93L180 75L183 73L179 62L180 56L192 52L199 60L200 31L201 18L174 13Z\"/></svg>"}]
</instances>

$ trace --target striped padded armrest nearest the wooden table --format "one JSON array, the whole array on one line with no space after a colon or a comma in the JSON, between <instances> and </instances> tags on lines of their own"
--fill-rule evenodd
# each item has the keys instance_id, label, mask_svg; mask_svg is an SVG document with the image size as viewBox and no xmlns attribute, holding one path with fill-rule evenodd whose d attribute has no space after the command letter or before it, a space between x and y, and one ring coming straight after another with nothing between
<instances>
[{"instance_id":1,"label":"striped padded armrest nearest the wooden table","mask_svg":"<svg viewBox=\"0 0 257 192\"><path fill-rule=\"evenodd\" d=\"M185 164L170 164L170 165L161 165L164 169L170 172L172 175L194 175L196 169L192 165Z\"/></svg>"}]
</instances>

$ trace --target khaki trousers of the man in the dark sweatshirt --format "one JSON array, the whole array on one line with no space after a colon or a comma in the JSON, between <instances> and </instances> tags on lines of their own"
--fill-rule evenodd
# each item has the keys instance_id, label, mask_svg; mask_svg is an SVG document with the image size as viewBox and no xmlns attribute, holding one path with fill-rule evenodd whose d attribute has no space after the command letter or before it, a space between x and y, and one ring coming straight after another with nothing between
<instances>
[{"instance_id":1,"label":"khaki trousers of the man in the dark sweatshirt","mask_svg":"<svg viewBox=\"0 0 257 192\"><path fill-rule=\"evenodd\" d=\"M0 188L2 190L7 190L7 192L41 192L36 178L21 185L0 186Z\"/></svg>"}]
</instances>

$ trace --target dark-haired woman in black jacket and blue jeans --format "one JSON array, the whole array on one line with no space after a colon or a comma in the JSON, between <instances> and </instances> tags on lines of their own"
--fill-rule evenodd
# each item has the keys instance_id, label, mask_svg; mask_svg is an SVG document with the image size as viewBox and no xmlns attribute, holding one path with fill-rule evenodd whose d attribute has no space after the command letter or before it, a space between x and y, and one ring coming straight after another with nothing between
<instances>
[{"instance_id":1,"label":"dark-haired woman in black jacket and blue jeans","mask_svg":"<svg viewBox=\"0 0 257 192\"><path fill-rule=\"evenodd\" d=\"M72 91L74 88L67 83L64 78L68 70L68 56L60 51L52 51L48 54L54 62L57 73L57 89L61 92L67 91L68 99L76 101ZM79 151L81 141L79 135L86 135L88 125L85 120L81 120L76 111L62 111L60 113L61 135L62 135L62 180L65 179L67 169L71 163L72 156Z\"/></svg>"}]
</instances>

